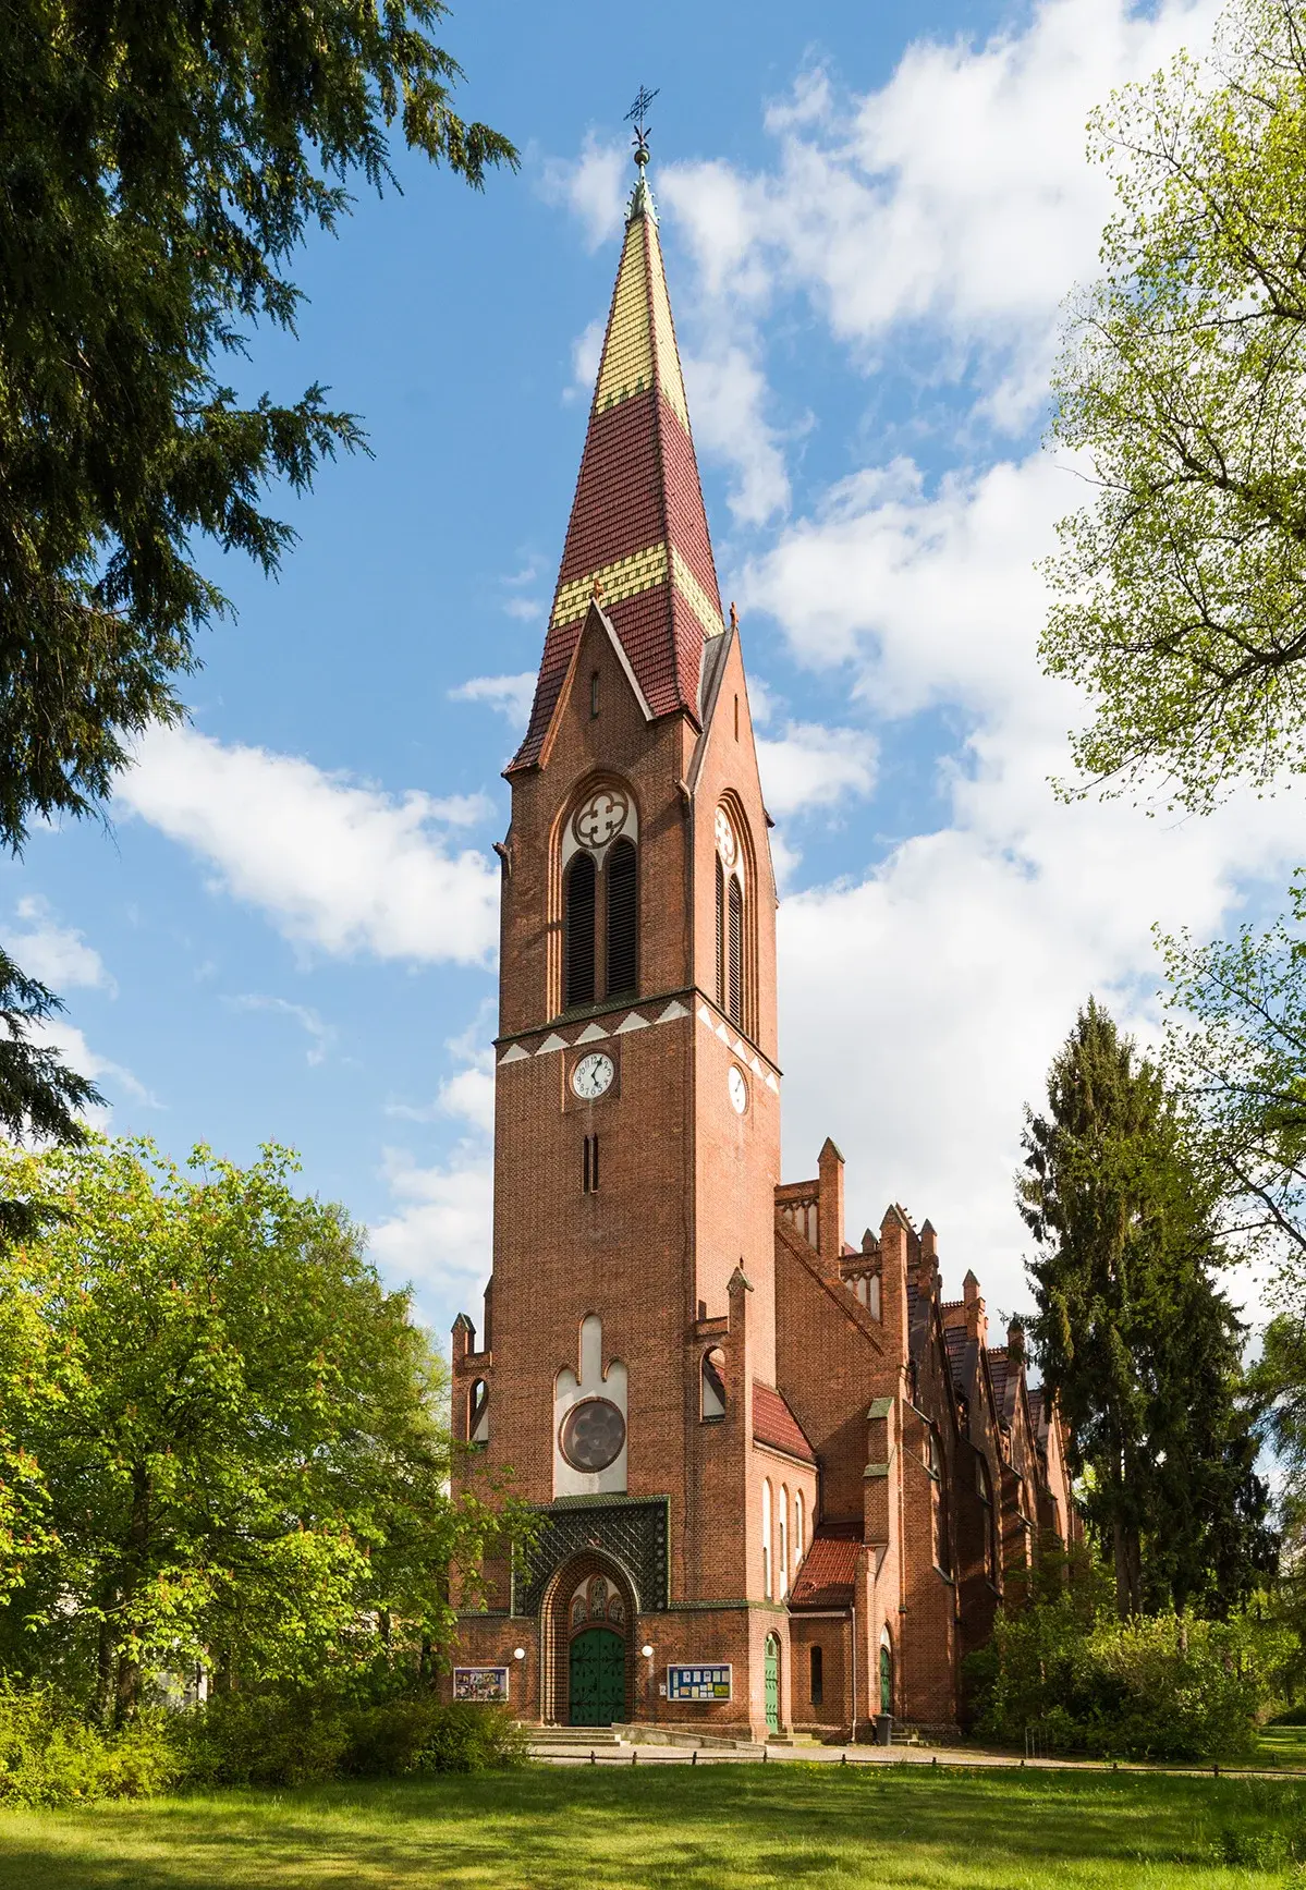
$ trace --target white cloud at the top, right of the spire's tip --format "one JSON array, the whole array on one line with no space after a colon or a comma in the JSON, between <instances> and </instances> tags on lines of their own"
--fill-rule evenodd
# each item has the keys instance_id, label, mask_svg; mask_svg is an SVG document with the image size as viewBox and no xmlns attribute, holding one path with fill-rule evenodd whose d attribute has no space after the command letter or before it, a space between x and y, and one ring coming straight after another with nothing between
<instances>
[{"instance_id":1,"label":"white cloud at the top, right of the spire's tip","mask_svg":"<svg viewBox=\"0 0 1306 1890\"><path fill-rule=\"evenodd\" d=\"M805 74L767 113L777 164L671 166L662 187L703 293L756 318L809 297L835 338L877 365L890 329L920 325L930 372L987 359L977 410L1022 429L1045 389L1057 310L1092 272L1109 178L1085 163L1094 104L1202 49L1219 0L1043 0L1030 25L973 45L919 40L885 87L839 100Z\"/></svg>"}]
</instances>

